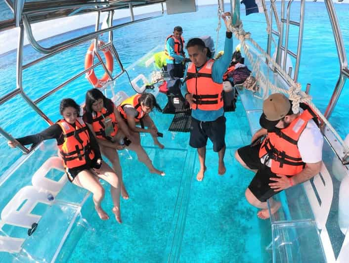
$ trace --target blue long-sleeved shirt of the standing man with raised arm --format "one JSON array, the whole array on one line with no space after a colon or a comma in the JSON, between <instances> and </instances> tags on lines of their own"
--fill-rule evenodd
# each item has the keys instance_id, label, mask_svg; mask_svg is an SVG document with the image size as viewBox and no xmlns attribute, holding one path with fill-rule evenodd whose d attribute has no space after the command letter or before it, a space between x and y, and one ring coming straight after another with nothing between
<instances>
[{"instance_id":1,"label":"blue long-sleeved shirt of the standing man with raised arm","mask_svg":"<svg viewBox=\"0 0 349 263\"><path fill-rule=\"evenodd\" d=\"M223 82L223 75L226 72L227 68L229 67L232 54L233 54L233 39L225 38L224 54L219 59L217 59L212 66L212 79L214 82L216 83ZM201 67L196 69L197 71L199 71ZM187 71L185 70L184 79L186 75L187 75ZM188 93L188 88L186 87L186 83L182 85L181 92L183 96L185 96L185 94ZM223 107L221 107L219 110L212 110L212 111L205 111L200 109L191 111L191 116L202 122L213 122L223 114L224 114Z\"/></svg>"}]
</instances>

